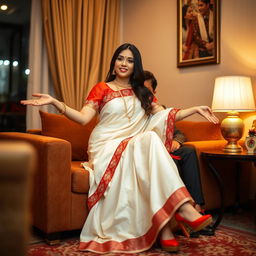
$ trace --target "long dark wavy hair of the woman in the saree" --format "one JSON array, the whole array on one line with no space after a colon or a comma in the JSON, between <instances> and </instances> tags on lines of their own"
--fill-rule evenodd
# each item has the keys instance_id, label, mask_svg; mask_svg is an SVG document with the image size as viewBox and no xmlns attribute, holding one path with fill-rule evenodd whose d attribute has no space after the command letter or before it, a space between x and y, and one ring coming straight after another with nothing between
<instances>
[{"instance_id":1,"label":"long dark wavy hair of the woman in the saree","mask_svg":"<svg viewBox=\"0 0 256 256\"><path fill-rule=\"evenodd\" d=\"M129 49L132 52L134 58L134 68L133 73L130 76L129 83L131 84L135 95L140 100L142 108L145 110L146 114L149 115L152 111L151 103L153 100L153 94L148 88L144 86L145 77L142 67L141 55L135 45L125 43L116 49L110 62L108 75L105 81L111 82L116 78L115 74L113 74L116 59L119 56L119 54L126 49Z\"/></svg>"}]
</instances>

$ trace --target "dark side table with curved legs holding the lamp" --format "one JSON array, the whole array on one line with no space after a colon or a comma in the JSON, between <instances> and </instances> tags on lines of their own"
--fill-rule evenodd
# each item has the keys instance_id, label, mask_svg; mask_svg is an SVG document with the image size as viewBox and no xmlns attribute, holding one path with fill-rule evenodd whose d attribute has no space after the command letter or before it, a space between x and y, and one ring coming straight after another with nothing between
<instances>
[{"instance_id":1,"label":"dark side table with curved legs holding the lamp","mask_svg":"<svg viewBox=\"0 0 256 256\"><path fill-rule=\"evenodd\" d=\"M201 156L203 159L206 160L206 163L208 165L208 169L211 171L213 176L215 177L218 185L218 189L220 192L220 199L221 199L221 205L219 209L219 214L217 216L217 219L215 223L213 224L213 228L216 229L218 225L220 224L223 213L224 213L224 185L223 180L215 168L213 161L214 160L227 160L227 161L233 161L236 163L236 200L239 202L239 178L241 173L241 162L254 162L256 166L256 154L247 154L246 151L243 151L241 153L225 153L222 150L215 150L215 151L202 151Z\"/></svg>"}]
</instances>

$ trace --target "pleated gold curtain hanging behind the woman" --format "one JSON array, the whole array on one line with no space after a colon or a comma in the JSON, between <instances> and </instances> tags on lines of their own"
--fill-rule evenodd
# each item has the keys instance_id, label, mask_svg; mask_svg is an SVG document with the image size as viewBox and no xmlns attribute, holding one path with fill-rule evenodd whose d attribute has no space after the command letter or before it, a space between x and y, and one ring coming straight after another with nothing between
<instances>
[{"instance_id":1,"label":"pleated gold curtain hanging behind the woman","mask_svg":"<svg viewBox=\"0 0 256 256\"><path fill-rule=\"evenodd\" d=\"M42 10L56 95L80 110L119 44L120 0L42 0Z\"/></svg>"}]
</instances>

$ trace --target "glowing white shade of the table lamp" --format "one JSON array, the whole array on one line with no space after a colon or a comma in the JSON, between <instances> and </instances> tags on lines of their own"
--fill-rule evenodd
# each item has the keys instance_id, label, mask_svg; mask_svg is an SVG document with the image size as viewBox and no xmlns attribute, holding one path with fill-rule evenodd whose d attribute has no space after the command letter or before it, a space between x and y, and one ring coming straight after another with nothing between
<instances>
[{"instance_id":1,"label":"glowing white shade of the table lamp","mask_svg":"<svg viewBox=\"0 0 256 256\"><path fill-rule=\"evenodd\" d=\"M212 110L214 112L255 111L250 77L217 77L214 85Z\"/></svg>"}]
</instances>

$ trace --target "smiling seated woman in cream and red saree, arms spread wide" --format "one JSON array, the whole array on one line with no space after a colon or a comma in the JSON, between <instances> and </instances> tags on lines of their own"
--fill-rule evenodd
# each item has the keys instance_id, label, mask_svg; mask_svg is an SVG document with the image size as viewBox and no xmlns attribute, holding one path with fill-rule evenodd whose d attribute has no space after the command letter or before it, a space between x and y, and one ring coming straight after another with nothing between
<instances>
[{"instance_id":1,"label":"smiling seated woman in cream and red saree, arms spread wide","mask_svg":"<svg viewBox=\"0 0 256 256\"><path fill-rule=\"evenodd\" d=\"M68 118L87 124L99 112L88 146L89 215L80 249L96 253L135 253L149 249L161 231L165 250L177 251L169 221L201 229L211 216L201 216L168 154L175 120L199 113L218 122L207 106L164 110L152 102L143 85L141 56L132 44L115 51L106 82L89 93L76 111L47 94L34 94L25 105L54 105Z\"/></svg>"}]
</instances>

